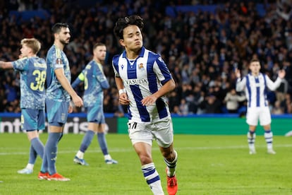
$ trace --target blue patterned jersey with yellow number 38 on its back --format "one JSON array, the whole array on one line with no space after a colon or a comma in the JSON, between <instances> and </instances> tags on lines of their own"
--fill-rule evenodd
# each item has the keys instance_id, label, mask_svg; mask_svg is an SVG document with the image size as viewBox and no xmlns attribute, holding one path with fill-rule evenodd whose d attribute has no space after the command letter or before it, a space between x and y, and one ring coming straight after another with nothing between
<instances>
[{"instance_id":1,"label":"blue patterned jersey with yellow number 38 on its back","mask_svg":"<svg viewBox=\"0 0 292 195\"><path fill-rule=\"evenodd\" d=\"M20 72L20 107L44 110L47 64L39 57L25 57L12 62Z\"/></svg>"}]
</instances>

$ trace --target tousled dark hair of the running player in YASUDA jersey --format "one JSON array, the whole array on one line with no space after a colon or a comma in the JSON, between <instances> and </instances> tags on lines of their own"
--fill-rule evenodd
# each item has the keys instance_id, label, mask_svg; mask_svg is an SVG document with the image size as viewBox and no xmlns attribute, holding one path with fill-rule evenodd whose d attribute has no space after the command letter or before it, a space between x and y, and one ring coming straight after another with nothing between
<instances>
[{"instance_id":1,"label":"tousled dark hair of the running player in YASUDA jersey","mask_svg":"<svg viewBox=\"0 0 292 195\"><path fill-rule=\"evenodd\" d=\"M140 16L126 16L125 18L118 18L116 25L114 27L114 35L120 40L123 40L123 29L128 25L137 25L138 28L142 31L144 27L143 19Z\"/></svg>"}]
</instances>

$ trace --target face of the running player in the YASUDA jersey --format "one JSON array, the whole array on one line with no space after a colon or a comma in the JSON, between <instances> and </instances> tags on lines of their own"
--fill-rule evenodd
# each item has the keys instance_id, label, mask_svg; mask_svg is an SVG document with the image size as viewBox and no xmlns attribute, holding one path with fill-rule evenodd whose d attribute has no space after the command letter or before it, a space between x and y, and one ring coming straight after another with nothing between
<instances>
[{"instance_id":1,"label":"face of the running player in the YASUDA jersey","mask_svg":"<svg viewBox=\"0 0 292 195\"><path fill-rule=\"evenodd\" d=\"M142 33L137 25L129 25L123 29L123 40L121 45L128 50L137 52L142 47Z\"/></svg>"}]
</instances>

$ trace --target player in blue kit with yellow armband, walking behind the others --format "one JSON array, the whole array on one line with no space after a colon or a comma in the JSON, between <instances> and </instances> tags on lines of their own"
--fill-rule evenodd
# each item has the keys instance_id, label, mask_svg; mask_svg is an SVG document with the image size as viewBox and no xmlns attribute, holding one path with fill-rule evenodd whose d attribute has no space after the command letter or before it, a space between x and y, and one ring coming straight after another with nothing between
<instances>
[{"instance_id":1,"label":"player in blue kit with yellow armband, walking behind the others","mask_svg":"<svg viewBox=\"0 0 292 195\"><path fill-rule=\"evenodd\" d=\"M99 147L104 154L104 161L107 164L117 164L111 158L107 149L105 138L105 119L104 119L104 89L109 88L109 82L102 70L102 64L106 58L107 47L103 43L93 46L93 59L85 66L78 78L72 83L75 88L79 83L84 82L84 107L87 109L88 130L73 161L80 165L88 165L84 160L84 153L90 146L93 136L97 133Z\"/></svg>"}]
</instances>

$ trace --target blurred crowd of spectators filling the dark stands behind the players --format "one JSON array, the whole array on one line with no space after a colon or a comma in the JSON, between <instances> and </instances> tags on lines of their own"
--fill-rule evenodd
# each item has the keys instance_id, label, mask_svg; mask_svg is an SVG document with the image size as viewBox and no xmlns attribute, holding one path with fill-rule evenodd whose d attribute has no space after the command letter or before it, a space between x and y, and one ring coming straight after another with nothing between
<instances>
[{"instance_id":1,"label":"blurred crowd of spectators filling the dark stands behind the players","mask_svg":"<svg viewBox=\"0 0 292 195\"><path fill-rule=\"evenodd\" d=\"M82 1L81 1L82 2ZM235 68L248 73L248 61L257 56L262 72L272 80L279 69L286 79L267 97L272 114L292 113L292 9L291 1L21 1L0 3L0 59L18 59L20 40L36 37L42 42L40 57L53 44L51 25L68 23L71 43L65 52L71 64L72 81L92 58L92 45L104 42L108 56L104 72L111 88L104 93L104 112L122 116L118 105L111 58L122 51L114 37L117 18L138 14L145 20L145 47L162 55L176 81L168 96L172 113L244 112L243 94L234 93ZM264 8L260 14L256 4ZM176 6L217 6L212 11L177 11ZM171 8L174 15L166 14ZM45 10L48 18L22 20L10 11ZM21 13L21 12L20 12ZM82 85L75 88L82 95ZM0 70L0 112L20 112L19 74ZM227 98L227 96L229 98ZM232 98L233 97L233 98ZM227 105L227 107L226 107ZM75 112L83 112L75 110Z\"/></svg>"}]
</instances>

